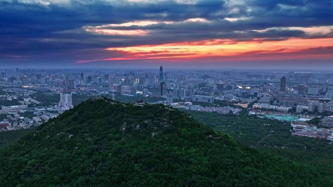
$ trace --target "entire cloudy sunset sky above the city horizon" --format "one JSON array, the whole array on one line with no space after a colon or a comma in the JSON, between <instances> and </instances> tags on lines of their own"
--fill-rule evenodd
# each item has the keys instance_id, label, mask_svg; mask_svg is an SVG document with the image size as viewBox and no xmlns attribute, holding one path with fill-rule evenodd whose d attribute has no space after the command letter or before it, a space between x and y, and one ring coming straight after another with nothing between
<instances>
[{"instance_id":1,"label":"entire cloudy sunset sky above the city horizon","mask_svg":"<svg viewBox=\"0 0 333 187\"><path fill-rule=\"evenodd\" d=\"M333 69L333 0L0 0L0 66Z\"/></svg>"}]
</instances>

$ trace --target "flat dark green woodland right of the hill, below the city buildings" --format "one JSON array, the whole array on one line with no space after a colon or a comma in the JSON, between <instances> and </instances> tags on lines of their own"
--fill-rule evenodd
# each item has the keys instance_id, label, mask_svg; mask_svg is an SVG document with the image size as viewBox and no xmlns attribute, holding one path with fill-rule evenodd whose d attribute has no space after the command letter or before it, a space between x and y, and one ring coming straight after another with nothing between
<instances>
[{"instance_id":1,"label":"flat dark green woodland right of the hill, below the city buildings","mask_svg":"<svg viewBox=\"0 0 333 187\"><path fill-rule=\"evenodd\" d=\"M293 136L290 123L247 114L236 116L215 112L186 112L217 131L230 134L243 145L296 160L318 170L322 175L332 176L333 144L326 140Z\"/></svg>"}]
</instances>

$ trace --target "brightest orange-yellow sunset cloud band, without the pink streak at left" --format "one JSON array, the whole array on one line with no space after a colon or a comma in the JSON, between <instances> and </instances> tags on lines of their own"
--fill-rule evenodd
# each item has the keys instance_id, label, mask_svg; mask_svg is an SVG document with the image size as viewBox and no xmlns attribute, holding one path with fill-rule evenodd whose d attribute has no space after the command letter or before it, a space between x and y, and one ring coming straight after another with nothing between
<instances>
[{"instance_id":1,"label":"brightest orange-yellow sunset cloud band, without the pink streak at left","mask_svg":"<svg viewBox=\"0 0 333 187\"><path fill-rule=\"evenodd\" d=\"M252 41L233 40L204 40L195 42L169 43L162 45L142 45L131 47L107 48L116 51L129 58L149 59L174 57L194 58L204 56L240 56L251 53L291 53L306 50L308 48L333 46L333 38L301 39L291 38L282 41ZM260 51L260 52L258 52ZM180 54L183 54L180 56Z\"/></svg>"}]
</instances>

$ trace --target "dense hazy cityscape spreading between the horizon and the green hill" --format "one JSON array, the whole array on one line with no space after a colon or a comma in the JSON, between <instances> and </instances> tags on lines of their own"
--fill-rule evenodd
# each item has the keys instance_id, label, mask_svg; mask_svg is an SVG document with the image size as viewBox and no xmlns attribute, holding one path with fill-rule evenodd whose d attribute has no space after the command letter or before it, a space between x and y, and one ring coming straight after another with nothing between
<instances>
[{"instance_id":1,"label":"dense hazy cityscape spreading between the horizon and the green hill","mask_svg":"<svg viewBox=\"0 0 333 187\"><path fill-rule=\"evenodd\" d=\"M101 72L101 73L99 73ZM1 131L38 126L79 102L161 103L183 110L292 122L292 134L333 141L333 74L168 70L35 70L1 73ZM74 100L74 101L73 101ZM317 123L312 124L318 119ZM310 123L309 123L310 122Z\"/></svg>"}]
</instances>

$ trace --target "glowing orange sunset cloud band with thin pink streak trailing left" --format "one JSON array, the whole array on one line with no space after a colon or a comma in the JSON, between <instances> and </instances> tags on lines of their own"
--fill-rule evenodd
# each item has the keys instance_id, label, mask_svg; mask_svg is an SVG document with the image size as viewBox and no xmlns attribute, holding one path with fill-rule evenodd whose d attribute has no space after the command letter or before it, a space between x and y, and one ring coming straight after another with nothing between
<instances>
[{"instance_id":1,"label":"glowing orange sunset cloud band with thin pink streak trailing left","mask_svg":"<svg viewBox=\"0 0 333 187\"><path fill-rule=\"evenodd\" d=\"M161 45L140 45L130 47L113 47L106 50L116 52L121 57L98 60L81 60L77 63L112 60L167 59L168 61L189 59L227 59L244 60L248 58L295 59L303 56L333 57L322 54L326 47L333 47L333 38L301 39L290 38L281 41L265 41L257 38L251 41L231 39L213 39L193 42L166 43ZM309 49L312 49L309 53ZM316 50L313 50L316 49ZM333 48L332 48L333 49ZM330 50L332 50L330 48ZM308 52L307 52L308 51Z\"/></svg>"}]
</instances>

